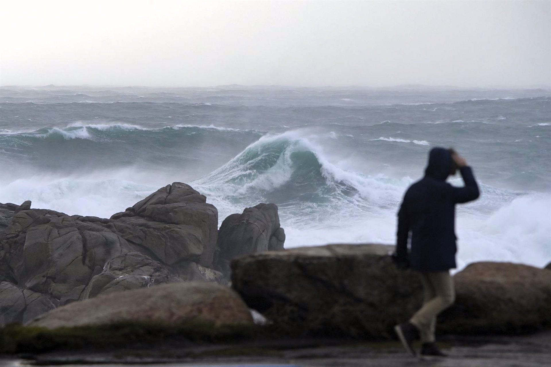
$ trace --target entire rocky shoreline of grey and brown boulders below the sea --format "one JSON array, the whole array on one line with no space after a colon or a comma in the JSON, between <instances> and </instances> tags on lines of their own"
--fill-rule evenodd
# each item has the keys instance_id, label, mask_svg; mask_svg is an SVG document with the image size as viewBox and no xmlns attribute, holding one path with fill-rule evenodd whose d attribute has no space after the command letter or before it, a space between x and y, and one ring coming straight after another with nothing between
<instances>
[{"instance_id":1,"label":"entire rocky shoreline of grey and brown boulders below the sea","mask_svg":"<svg viewBox=\"0 0 551 367\"><path fill-rule=\"evenodd\" d=\"M276 205L230 215L218 229L217 209L183 183L109 219L0 204L0 353L56 364L136 363L115 357L125 350L141 350L140 363L405 363L392 327L419 307L422 287L393 265L393 247L284 250L284 240ZM549 267L467 266L454 276L457 299L439 317L439 337L462 360L493 341L520 354L533 338L545 344ZM543 365L549 352L534 348ZM373 364L358 364L365 358Z\"/></svg>"}]
</instances>

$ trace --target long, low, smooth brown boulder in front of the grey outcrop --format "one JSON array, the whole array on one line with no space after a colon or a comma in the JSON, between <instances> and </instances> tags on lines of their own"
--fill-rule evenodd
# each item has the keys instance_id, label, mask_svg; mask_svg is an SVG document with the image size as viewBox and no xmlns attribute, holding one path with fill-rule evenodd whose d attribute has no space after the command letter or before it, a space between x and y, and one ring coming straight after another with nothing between
<instances>
[{"instance_id":1,"label":"long, low, smooth brown boulder in front of the grey outcrop","mask_svg":"<svg viewBox=\"0 0 551 367\"><path fill-rule=\"evenodd\" d=\"M234 291L214 283L172 283L116 292L75 302L46 314L29 326L46 328L154 322L174 326L186 322L252 325L245 303Z\"/></svg>"}]
</instances>

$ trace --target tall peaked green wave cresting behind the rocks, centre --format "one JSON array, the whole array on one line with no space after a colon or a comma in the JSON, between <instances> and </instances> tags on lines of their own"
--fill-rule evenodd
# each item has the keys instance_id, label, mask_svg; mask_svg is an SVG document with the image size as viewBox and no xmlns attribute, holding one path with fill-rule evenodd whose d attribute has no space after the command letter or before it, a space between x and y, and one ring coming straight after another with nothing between
<instances>
[{"instance_id":1,"label":"tall peaked green wave cresting behind the rocks, centre","mask_svg":"<svg viewBox=\"0 0 551 367\"><path fill-rule=\"evenodd\" d=\"M214 196L364 207L396 202L404 187L402 181L390 184L334 165L300 132L265 135L193 184Z\"/></svg>"}]
</instances>

